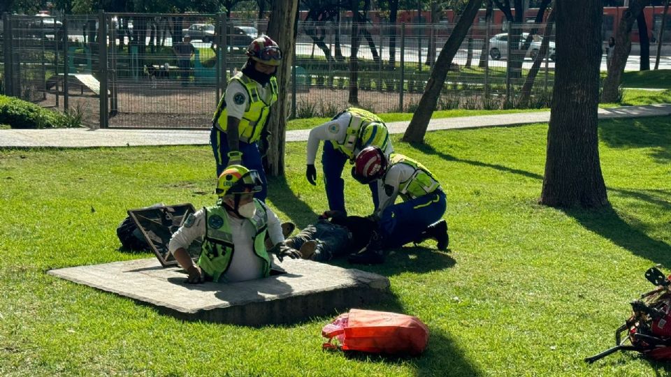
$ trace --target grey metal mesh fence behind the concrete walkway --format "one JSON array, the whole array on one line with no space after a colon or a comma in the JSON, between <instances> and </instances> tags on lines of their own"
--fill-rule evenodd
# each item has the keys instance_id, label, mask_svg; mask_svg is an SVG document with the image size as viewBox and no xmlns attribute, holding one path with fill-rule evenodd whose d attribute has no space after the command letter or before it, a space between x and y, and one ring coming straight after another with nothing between
<instances>
[{"instance_id":1,"label":"grey metal mesh fence behind the concrete walkway","mask_svg":"<svg viewBox=\"0 0 671 377\"><path fill-rule=\"evenodd\" d=\"M3 20L0 87L45 107L80 112L93 128L209 127L227 80L246 61L245 47L267 27L264 20L220 14L4 15ZM437 110L517 105L540 37L524 56L508 48L519 41L503 39L542 34L544 25L503 29L472 26ZM374 112L412 112L451 31L443 24L358 24L358 38L352 40L351 22L298 22L291 117L329 117L352 102ZM550 45L554 50L554 42ZM549 103L551 54L539 59L527 105Z\"/></svg>"}]
</instances>

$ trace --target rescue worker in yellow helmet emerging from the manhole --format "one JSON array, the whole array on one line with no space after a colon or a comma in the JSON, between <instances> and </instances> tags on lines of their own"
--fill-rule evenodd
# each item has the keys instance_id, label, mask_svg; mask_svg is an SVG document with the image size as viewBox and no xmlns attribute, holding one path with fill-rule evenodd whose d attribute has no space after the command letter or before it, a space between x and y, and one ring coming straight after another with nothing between
<instances>
[{"instance_id":1,"label":"rescue worker in yellow helmet emerging from the manhole","mask_svg":"<svg viewBox=\"0 0 671 377\"><path fill-rule=\"evenodd\" d=\"M270 256L264 237L268 232L277 258L300 258L284 244L280 220L264 202L254 198L261 191L256 170L231 165L217 182L217 205L190 214L173 234L168 249L189 274L189 283L233 282L259 279L270 274ZM187 248L204 237L201 256L193 263Z\"/></svg>"}]
</instances>

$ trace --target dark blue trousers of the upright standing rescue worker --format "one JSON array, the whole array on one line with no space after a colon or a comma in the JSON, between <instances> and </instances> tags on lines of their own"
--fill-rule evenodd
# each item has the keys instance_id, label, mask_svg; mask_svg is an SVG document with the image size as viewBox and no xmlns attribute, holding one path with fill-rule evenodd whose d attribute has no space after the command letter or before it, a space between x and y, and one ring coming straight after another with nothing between
<instances>
[{"instance_id":1,"label":"dark blue trousers of the upright standing rescue worker","mask_svg":"<svg viewBox=\"0 0 671 377\"><path fill-rule=\"evenodd\" d=\"M212 153L215 154L218 178L229 164L229 151L231 149L229 149L229 139L226 137L226 133L219 131L216 127L212 127L212 131L210 131L210 145L212 145ZM264 172L264 163L261 159L261 152L259 152L259 145L256 142L249 144L239 142L238 147L243 153L243 165L245 168L257 170L261 176L261 181L264 182L263 188L254 194L254 198L265 202L268 196L268 180L266 179L266 172Z\"/></svg>"}]
</instances>

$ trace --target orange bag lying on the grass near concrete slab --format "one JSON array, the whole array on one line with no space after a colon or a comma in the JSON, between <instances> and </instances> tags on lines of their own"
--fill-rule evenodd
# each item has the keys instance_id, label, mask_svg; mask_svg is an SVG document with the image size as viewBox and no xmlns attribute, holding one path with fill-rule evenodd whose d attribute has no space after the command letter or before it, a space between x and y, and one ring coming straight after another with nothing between
<instances>
[{"instance_id":1,"label":"orange bag lying on the grass near concrete slab","mask_svg":"<svg viewBox=\"0 0 671 377\"><path fill-rule=\"evenodd\" d=\"M322 336L329 339L323 349L414 356L426 348L428 327L414 316L352 309L324 326Z\"/></svg>"}]
</instances>

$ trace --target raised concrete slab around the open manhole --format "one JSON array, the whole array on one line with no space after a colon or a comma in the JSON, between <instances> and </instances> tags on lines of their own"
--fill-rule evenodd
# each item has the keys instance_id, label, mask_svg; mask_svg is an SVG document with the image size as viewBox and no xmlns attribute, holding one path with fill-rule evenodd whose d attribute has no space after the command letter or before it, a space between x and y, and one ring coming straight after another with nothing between
<instances>
[{"instance_id":1,"label":"raised concrete slab around the open manhole","mask_svg":"<svg viewBox=\"0 0 671 377\"><path fill-rule=\"evenodd\" d=\"M185 283L155 258L53 269L48 274L130 297L184 320L260 326L296 323L365 307L389 291L385 276L311 260L284 259L285 274L240 283Z\"/></svg>"}]
</instances>

